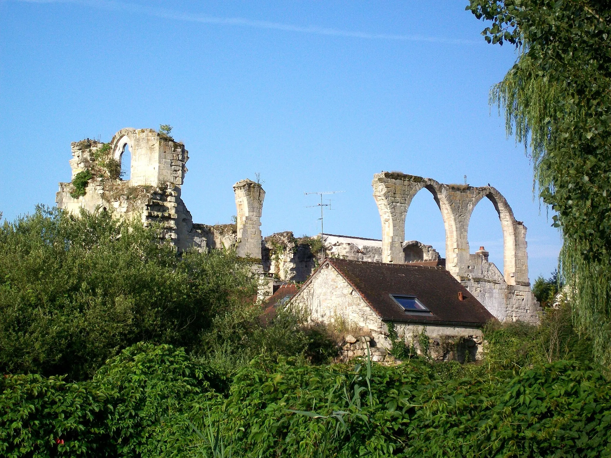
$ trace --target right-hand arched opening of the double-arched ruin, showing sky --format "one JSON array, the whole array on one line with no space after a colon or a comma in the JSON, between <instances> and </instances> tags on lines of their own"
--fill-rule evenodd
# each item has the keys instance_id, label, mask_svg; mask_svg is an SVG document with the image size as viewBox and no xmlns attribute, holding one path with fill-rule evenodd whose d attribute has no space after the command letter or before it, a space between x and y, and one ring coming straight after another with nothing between
<instances>
[{"instance_id":1,"label":"right-hand arched opening of the double-arched ruin, showing sky","mask_svg":"<svg viewBox=\"0 0 611 458\"><path fill-rule=\"evenodd\" d=\"M500 225L499 213L488 198L484 197L475 205L469 220L467 237L470 252L480 252L484 256L485 252L488 252L488 261L493 263L502 274L505 261L503 229ZM484 250L481 250L481 247Z\"/></svg>"}]
</instances>

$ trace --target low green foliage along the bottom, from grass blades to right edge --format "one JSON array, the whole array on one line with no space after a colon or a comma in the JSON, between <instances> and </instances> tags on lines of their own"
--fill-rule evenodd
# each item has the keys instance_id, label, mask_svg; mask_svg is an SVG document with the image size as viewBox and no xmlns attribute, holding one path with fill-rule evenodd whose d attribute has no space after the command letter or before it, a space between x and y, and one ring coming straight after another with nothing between
<instances>
[{"instance_id":1,"label":"low green foliage along the bottom, from grass blades to right edge","mask_svg":"<svg viewBox=\"0 0 611 458\"><path fill-rule=\"evenodd\" d=\"M375 365L370 399L364 377L359 381L348 366L258 362L235 377L213 415L235 456L611 453L611 387L600 373L558 362L522 369L516 377L482 375L448 379L422 360ZM345 429L329 421L334 412L343 413Z\"/></svg>"}]
</instances>

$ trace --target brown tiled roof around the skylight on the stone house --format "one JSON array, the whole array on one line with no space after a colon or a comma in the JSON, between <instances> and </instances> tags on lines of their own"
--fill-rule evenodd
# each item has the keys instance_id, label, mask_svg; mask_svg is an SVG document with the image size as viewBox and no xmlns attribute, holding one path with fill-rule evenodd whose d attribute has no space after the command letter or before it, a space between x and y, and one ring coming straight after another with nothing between
<instances>
[{"instance_id":1,"label":"brown tiled roof around the skylight on the stone house","mask_svg":"<svg viewBox=\"0 0 611 458\"><path fill-rule=\"evenodd\" d=\"M382 319L456 325L483 325L494 319L443 267L338 258L330 258L326 262L340 272ZM459 292L463 293L464 300L458 299ZM431 313L406 313L390 294L415 296Z\"/></svg>"}]
</instances>

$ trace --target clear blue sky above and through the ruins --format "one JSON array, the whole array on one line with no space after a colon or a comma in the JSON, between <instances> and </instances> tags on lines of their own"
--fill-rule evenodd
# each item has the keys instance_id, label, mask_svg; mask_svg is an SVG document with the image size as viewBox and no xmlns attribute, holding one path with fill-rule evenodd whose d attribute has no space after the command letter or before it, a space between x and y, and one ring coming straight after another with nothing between
<instances>
[{"instance_id":1,"label":"clear blue sky above and through the ruins","mask_svg":"<svg viewBox=\"0 0 611 458\"><path fill-rule=\"evenodd\" d=\"M524 147L488 105L513 65L486 45L466 2L0 0L0 211L54 204L70 142L123 127L174 126L189 150L183 200L194 221L230 222L232 184L260 173L264 235L381 237L371 179L382 170L488 183L529 228L530 278L557 265L560 238L533 200ZM406 238L444 253L426 190ZM500 222L475 208L472 252L502 266Z\"/></svg>"}]
</instances>

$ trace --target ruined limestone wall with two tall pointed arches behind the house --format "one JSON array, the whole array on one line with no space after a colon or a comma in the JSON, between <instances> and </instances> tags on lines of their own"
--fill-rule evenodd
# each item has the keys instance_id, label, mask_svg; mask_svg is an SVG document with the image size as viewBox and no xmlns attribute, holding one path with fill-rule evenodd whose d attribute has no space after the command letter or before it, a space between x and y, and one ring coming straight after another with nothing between
<instances>
[{"instance_id":1,"label":"ruined limestone wall with two tall pointed arches behind the house","mask_svg":"<svg viewBox=\"0 0 611 458\"><path fill-rule=\"evenodd\" d=\"M376 173L372 186L382 222L382 262L408 260L401 250L405 219L414 195L426 188L433 194L444 220L446 269L474 296L481 297L481 302L501 321L538 321L541 309L530 292L526 227L515 219L499 191L492 186L441 184L431 178L400 172ZM470 253L469 220L484 197L496 208L503 230L503 275L496 275L496 267L492 269L487 258L483 263L480 255ZM486 277L484 272L494 278Z\"/></svg>"}]
</instances>

